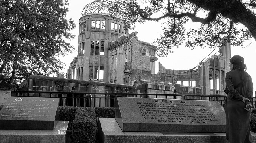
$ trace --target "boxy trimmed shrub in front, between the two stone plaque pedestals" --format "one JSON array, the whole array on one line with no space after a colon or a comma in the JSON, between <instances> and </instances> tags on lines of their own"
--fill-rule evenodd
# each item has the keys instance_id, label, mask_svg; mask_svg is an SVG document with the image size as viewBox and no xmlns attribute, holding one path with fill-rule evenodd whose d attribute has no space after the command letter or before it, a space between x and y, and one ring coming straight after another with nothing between
<instances>
[{"instance_id":1,"label":"boxy trimmed shrub in front, between the two stone plaque pedestals","mask_svg":"<svg viewBox=\"0 0 256 143\"><path fill-rule=\"evenodd\" d=\"M73 143L95 143L96 132L95 108L78 108L72 125Z\"/></svg>"}]
</instances>

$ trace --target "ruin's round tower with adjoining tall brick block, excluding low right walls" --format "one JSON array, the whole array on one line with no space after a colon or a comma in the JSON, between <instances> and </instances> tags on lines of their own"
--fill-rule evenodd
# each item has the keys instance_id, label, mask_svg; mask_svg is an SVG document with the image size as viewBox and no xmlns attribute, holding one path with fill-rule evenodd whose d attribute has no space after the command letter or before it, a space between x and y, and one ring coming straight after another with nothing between
<instances>
[{"instance_id":1,"label":"ruin's round tower with adjoining tall brick block, excluding low right walls","mask_svg":"<svg viewBox=\"0 0 256 143\"><path fill-rule=\"evenodd\" d=\"M128 84L155 74L156 46L138 41L119 18L84 14L79 20L78 56L70 63L69 79Z\"/></svg>"}]
</instances>

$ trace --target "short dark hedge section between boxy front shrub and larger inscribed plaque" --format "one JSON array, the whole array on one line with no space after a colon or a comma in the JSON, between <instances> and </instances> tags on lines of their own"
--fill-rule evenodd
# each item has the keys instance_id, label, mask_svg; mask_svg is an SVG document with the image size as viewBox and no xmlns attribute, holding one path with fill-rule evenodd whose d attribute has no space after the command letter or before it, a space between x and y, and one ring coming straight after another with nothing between
<instances>
[{"instance_id":1,"label":"short dark hedge section between boxy front shrub and larger inscribed plaque","mask_svg":"<svg viewBox=\"0 0 256 143\"><path fill-rule=\"evenodd\" d=\"M114 107L95 107L95 113L98 118L115 118Z\"/></svg>"}]
</instances>

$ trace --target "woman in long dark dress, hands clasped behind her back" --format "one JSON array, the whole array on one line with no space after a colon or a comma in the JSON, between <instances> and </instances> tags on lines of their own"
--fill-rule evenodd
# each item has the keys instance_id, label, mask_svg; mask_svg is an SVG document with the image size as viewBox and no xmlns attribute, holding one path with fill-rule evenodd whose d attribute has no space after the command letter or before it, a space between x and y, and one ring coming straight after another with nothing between
<instances>
[{"instance_id":1,"label":"woman in long dark dress, hands clasped behind her back","mask_svg":"<svg viewBox=\"0 0 256 143\"><path fill-rule=\"evenodd\" d=\"M252 78L246 73L244 58L235 55L229 60L229 72L226 73L226 86L229 90L225 99L226 138L230 143L252 143L250 133L250 100L253 96ZM236 89L234 89L236 87Z\"/></svg>"}]
</instances>

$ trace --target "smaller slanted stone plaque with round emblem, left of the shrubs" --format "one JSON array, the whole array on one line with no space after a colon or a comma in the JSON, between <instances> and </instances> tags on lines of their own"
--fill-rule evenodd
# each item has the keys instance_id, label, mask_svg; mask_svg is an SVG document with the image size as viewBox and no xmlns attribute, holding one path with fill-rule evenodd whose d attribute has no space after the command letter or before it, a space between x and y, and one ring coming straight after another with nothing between
<instances>
[{"instance_id":1,"label":"smaller slanted stone plaque with round emblem, left of the shrubs","mask_svg":"<svg viewBox=\"0 0 256 143\"><path fill-rule=\"evenodd\" d=\"M0 129L53 130L59 98L10 97L0 111Z\"/></svg>"}]
</instances>

